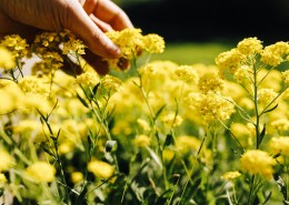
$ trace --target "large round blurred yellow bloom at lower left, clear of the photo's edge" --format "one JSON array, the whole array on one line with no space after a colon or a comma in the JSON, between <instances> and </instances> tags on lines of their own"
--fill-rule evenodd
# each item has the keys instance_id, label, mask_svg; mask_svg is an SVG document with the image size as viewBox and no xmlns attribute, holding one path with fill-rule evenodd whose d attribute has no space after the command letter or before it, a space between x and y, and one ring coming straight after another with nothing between
<instances>
[{"instance_id":1,"label":"large round blurred yellow bloom at lower left, clear of the photo's edge","mask_svg":"<svg viewBox=\"0 0 289 205\"><path fill-rule=\"evenodd\" d=\"M47 162L36 162L26 168L27 174L36 182L53 182L56 168Z\"/></svg>"}]
</instances>

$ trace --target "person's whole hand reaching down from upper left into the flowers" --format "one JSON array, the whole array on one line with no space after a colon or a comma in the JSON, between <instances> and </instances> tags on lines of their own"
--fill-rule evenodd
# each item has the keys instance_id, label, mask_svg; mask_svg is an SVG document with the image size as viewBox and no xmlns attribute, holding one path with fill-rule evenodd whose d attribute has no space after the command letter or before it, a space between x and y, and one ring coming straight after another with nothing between
<instances>
[{"instance_id":1,"label":"person's whole hand reaching down from upper left into the flowers","mask_svg":"<svg viewBox=\"0 0 289 205\"><path fill-rule=\"evenodd\" d=\"M99 73L108 72L102 58L120 57L104 32L132 27L110 0L0 0L0 39L12 33L33 39L41 31L68 29L88 47L84 58Z\"/></svg>"}]
</instances>

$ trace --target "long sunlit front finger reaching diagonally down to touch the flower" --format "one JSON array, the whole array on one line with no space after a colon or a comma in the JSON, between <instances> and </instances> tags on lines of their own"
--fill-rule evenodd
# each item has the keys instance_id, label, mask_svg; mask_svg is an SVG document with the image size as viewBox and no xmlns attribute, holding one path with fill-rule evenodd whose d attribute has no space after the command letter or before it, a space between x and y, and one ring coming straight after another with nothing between
<instances>
[{"instance_id":1,"label":"long sunlit front finger reaching diagonally down to touch the flower","mask_svg":"<svg viewBox=\"0 0 289 205\"><path fill-rule=\"evenodd\" d=\"M120 57L120 49L93 23L78 1L69 1L61 19L62 27L78 35L96 55Z\"/></svg>"}]
</instances>

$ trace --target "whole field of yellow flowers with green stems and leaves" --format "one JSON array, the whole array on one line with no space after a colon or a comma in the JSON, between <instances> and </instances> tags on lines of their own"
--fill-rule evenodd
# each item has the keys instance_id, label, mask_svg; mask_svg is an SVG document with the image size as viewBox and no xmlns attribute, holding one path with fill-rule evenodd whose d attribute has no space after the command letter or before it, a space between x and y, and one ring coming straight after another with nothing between
<instances>
[{"instance_id":1,"label":"whole field of yellow flowers with green stems and leaves","mask_svg":"<svg viewBox=\"0 0 289 205\"><path fill-rule=\"evenodd\" d=\"M165 40L140 29L107 35L122 57L102 75L69 31L0 42L0 204L289 204L288 42L206 65L150 60Z\"/></svg>"}]
</instances>

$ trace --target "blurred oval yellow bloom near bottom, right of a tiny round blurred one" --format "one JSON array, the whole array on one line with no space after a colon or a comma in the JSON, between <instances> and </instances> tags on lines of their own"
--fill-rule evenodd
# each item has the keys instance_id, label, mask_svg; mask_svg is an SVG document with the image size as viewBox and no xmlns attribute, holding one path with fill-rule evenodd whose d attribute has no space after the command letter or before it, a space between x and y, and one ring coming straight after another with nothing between
<instances>
[{"instance_id":1,"label":"blurred oval yellow bloom near bottom, right of a tiny round blurred one","mask_svg":"<svg viewBox=\"0 0 289 205\"><path fill-rule=\"evenodd\" d=\"M92 172L97 177L109 178L114 173L114 167L110 164L93 160L88 163L88 171Z\"/></svg>"}]
</instances>

